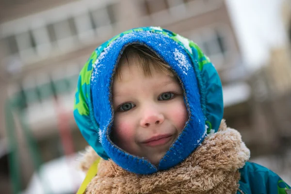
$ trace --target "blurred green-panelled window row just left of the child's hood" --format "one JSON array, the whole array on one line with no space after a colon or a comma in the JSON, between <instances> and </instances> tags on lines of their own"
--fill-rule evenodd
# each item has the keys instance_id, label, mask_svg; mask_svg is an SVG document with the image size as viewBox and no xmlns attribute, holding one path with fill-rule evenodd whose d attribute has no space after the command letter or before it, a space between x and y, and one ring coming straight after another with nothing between
<instances>
[{"instance_id":1,"label":"blurred green-panelled window row just left of the child's hood","mask_svg":"<svg viewBox=\"0 0 291 194\"><path fill-rule=\"evenodd\" d=\"M50 73L41 72L27 76L21 81L20 89L17 89L23 108L41 107L41 103L53 97L74 93L79 72L78 64L67 64L65 68L58 68Z\"/></svg>"}]
</instances>

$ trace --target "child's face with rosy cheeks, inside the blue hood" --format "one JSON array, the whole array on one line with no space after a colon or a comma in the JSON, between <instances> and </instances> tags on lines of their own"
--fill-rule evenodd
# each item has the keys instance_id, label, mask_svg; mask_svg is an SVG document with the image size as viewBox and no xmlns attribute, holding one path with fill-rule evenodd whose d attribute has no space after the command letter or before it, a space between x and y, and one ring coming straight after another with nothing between
<instances>
[{"instance_id":1,"label":"child's face with rosy cheeks, inside the blue hood","mask_svg":"<svg viewBox=\"0 0 291 194\"><path fill-rule=\"evenodd\" d=\"M161 72L145 77L134 60L121 61L119 68L122 79L113 81L113 142L157 165L187 121L183 90Z\"/></svg>"}]
</instances>

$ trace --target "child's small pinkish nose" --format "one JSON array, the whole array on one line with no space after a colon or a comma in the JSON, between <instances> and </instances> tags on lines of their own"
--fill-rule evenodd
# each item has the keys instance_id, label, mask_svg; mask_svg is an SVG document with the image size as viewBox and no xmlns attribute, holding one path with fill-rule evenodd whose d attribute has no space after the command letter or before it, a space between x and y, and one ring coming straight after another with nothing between
<instances>
[{"instance_id":1,"label":"child's small pinkish nose","mask_svg":"<svg viewBox=\"0 0 291 194\"><path fill-rule=\"evenodd\" d=\"M153 127L155 125L162 124L164 121L164 116L162 113L157 112L147 112L141 119L140 125L144 128Z\"/></svg>"}]
</instances>

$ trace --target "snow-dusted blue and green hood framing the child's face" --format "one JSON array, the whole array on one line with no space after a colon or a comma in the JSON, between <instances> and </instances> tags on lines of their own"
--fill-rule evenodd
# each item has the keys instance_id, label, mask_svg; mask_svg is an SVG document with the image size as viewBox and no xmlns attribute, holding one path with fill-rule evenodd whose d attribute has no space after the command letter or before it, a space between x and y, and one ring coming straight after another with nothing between
<instances>
[{"instance_id":1,"label":"snow-dusted blue and green hood framing the child's face","mask_svg":"<svg viewBox=\"0 0 291 194\"><path fill-rule=\"evenodd\" d=\"M123 50L141 44L153 50L177 73L189 119L158 166L133 156L110 139L113 124L112 83ZM217 71L198 46L159 27L132 29L103 43L80 73L74 116L82 135L103 159L112 159L137 174L166 170L186 159L207 133L217 131L223 116L222 86Z\"/></svg>"}]
</instances>

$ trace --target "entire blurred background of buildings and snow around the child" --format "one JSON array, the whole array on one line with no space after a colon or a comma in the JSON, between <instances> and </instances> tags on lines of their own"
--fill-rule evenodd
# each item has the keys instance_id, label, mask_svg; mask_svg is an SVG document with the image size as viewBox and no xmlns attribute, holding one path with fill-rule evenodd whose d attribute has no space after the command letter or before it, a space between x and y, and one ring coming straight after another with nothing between
<instances>
[{"instance_id":1,"label":"entire blurred background of buildings and snow around the child","mask_svg":"<svg viewBox=\"0 0 291 194\"><path fill-rule=\"evenodd\" d=\"M291 184L291 0L0 0L0 193L77 191L78 73L101 43L140 26L202 48L227 125L251 161Z\"/></svg>"}]
</instances>

